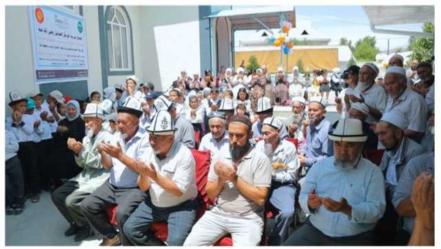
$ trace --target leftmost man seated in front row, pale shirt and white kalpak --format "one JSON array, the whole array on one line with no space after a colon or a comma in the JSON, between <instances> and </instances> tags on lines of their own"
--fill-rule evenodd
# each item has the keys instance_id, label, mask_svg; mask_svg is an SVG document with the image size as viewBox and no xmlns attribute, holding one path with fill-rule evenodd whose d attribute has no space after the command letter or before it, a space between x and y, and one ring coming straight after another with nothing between
<instances>
[{"instance_id":1,"label":"leftmost man seated in front row, pale shirt and white kalpak","mask_svg":"<svg viewBox=\"0 0 441 249\"><path fill-rule=\"evenodd\" d=\"M104 120L103 110L99 105L89 103L83 119L88 127L88 134L83 138L83 143L68 138L68 147L74 151L76 164L83 168L83 171L51 193L52 202L70 223L70 228L64 234L76 234L75 241L82 241L91 233L88 221L81 213L81 202L103 185L110 175L109 170L101 164L98 153L99 144L111 136L101 126Z\"/></svg>"}]
</instances>

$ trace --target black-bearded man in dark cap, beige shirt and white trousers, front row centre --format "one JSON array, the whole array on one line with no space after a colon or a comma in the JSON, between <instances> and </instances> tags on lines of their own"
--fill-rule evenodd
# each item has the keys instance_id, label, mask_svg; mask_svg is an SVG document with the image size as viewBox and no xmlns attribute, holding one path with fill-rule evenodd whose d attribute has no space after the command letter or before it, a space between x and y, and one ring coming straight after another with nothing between
<instances>
[{"instance_id":1,"label":"black-bearded man in dark cap, beige shirt and white trousers, front row centre","mask_svg":"<svg viewBox=\"0 0 441 249\"><path fill-rule=\"evenodd\" d=\"M184 246L212 246L227 234L234 246L257 246L263 232L263 210L271 186L271 163L249 143L251 122L232 116L229 148L215 155L205 186L216 206L193 226Z\"/></svg>"}]
</instances>

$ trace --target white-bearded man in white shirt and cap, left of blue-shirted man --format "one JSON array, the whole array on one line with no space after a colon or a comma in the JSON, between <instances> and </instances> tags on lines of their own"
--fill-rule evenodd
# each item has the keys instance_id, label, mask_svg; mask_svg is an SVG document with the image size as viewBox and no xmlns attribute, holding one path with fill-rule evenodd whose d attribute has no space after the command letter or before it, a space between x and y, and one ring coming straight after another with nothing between
<instances>
[{"instance_id":1,"label":"white-bearded man in white shirt and cap, left of blue-shirted man","mask_svg":"<svg viewBox=\"0 0 441 249\"><path fill-rule=\"evenodd\" d=\"M307 125L303 125L307 122L308 117L305 111L305 98L296 97L292 99L292 115L286 120L286 126L288 127L289 138L297 138L301 142L304 138L303 134L306 133Z\"/></svg>"}]
</instances>

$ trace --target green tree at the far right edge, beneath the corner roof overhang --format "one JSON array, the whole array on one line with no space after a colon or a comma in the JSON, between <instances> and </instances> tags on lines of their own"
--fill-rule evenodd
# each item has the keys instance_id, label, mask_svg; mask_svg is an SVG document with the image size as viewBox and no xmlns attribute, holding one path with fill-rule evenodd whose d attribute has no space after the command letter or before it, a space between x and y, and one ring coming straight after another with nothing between
<instances>
[{"instance_id":1,"label":"green tree at the far right edge, beneath the corner roof overhang","mask_svg":"<svg viewBox=\"0 0 441 249\"><path fill-rule=\"evenodd\" d=\"M435 25L432 23L424 23L422 30L427 33L435 32ZM435 43L432 38L420 37L409 39L409 48L412 50L412 54L409 56L411 60L418 61L430 61L433 55Z\"/></svg>"}]
</instances>

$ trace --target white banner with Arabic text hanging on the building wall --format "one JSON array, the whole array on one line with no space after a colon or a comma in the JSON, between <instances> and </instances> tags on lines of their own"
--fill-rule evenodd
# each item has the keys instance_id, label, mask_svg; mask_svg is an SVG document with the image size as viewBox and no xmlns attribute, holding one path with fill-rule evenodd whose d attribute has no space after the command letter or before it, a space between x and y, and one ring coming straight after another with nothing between
<instances>
[{"instance_id":1,"label":"white banner with Arabic text hanging on the building wall","mask_svg":"<svg viewBox=\"0 0 441 249\"><path fill-rule=\"evenodd\" d=\"M48 6L28 7L36 84L88 78L85 19Z\"/></svg>"}]
</instances>

